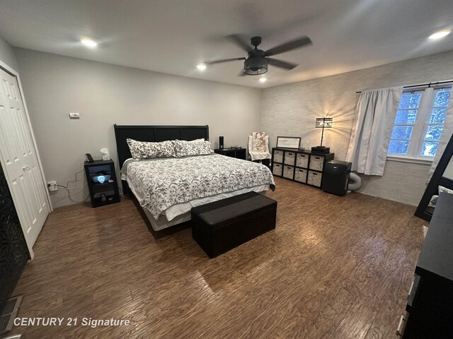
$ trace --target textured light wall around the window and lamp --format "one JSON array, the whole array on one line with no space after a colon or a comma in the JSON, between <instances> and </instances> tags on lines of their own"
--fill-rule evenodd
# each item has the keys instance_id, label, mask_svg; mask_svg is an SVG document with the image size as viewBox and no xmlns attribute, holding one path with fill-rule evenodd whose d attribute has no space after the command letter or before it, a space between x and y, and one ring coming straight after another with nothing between
<instances>
[{"instance_id":1,"label":"textured light wall around the window and lamp","mask_svg":"<svg viewBox=\"0 0 453 339\"><path fill-rule=\"evenodd\" d=\"M336 153L337 160L344 160L359 98L357 90L451 79L453 52L447 52L266 88L261 127L270 136L272 147L277 136L300 136L302 143L308 142L311 147L321 138L321 129L314 128L316 117L333 117L333 129L324 133L324 143ZM383 177L365 178L362 193L418 205L429 165L390 161L386 165Z\"/></svg>"}]
</instances>

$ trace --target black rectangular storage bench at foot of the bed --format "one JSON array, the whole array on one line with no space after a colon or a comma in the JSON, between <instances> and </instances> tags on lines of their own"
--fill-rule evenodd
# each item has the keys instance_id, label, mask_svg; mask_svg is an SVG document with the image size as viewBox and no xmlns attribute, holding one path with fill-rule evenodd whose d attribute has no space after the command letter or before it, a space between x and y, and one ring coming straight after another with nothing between
<instances>
[{"instance_id":1,"label":"black rectangular storage bench at foot of the bed","mask_svg":"<svg viewBox=\"0 0 453 339\"><path fill-rule=\"evenodd\" d=\"M275 229L277 201L250 192L192 208L192 237L210 257Z\"/></svg>"}]
</instances>

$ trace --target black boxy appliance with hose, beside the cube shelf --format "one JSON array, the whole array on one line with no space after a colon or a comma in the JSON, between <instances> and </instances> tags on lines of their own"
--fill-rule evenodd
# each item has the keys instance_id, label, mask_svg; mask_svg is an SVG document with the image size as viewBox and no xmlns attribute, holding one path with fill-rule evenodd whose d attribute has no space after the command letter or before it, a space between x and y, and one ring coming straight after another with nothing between
<instances>
[{"instance_id":1,"label":"black boxy appliance with hose, beside the cube shelf","mask_svg":"<svg viewBox=\"0 0 453 339\"><path fill-rule=\"evenodd\" d=\"M348 179L351 172L351 163L331 160L326 162L323 171L321 189L328 193L344 196L348 191Z\"/></svg>"}]
</instances>

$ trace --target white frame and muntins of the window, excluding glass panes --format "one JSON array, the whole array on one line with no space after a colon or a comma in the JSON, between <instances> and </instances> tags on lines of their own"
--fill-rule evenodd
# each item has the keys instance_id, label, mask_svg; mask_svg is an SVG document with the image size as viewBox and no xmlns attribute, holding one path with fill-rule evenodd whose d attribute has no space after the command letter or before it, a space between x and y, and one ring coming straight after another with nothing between
<instances>
[{"instance_id":1,"label":"white frame and muntins of the window, excluding glass panes","mask_svg":"<svg viewBox=\"0 0 453 339\"><path fill-rule=\"evenodd\" d=\"M450 99L449 102L452 100L453 89L452 83L449 84L442 84L432 87L419 87L419 88L410 88L403 90L403 94L405 93L421 93L420 103L418 108L413 108L417 110L417 116L415 117L415 121L413 124L392 124L392 131L394 126L413 126L411 137L409 138L409 145L408 145L408 152L406 154L399 154L399 153L389 153L387 149L387 157L389 159L405 159L405 160L423 160L423 161L430 161L434 160L434 157L428 155L420 155L421 150L423 149L423 143L426 141L425 136L426 132L428 131L429 126L444 126L442 124L430 124L430 117L432 114L432 109L434 108L435 97L437 92L440 90L450 90ZM448 109L449 105L447 105ZM398 107L398 110L399 109ZM403 109L403 110L411 110ZM400 140L400 139L391 139L391 140ZM437 144L439 141L436 141Z\"/></svg>"}]
</instances>

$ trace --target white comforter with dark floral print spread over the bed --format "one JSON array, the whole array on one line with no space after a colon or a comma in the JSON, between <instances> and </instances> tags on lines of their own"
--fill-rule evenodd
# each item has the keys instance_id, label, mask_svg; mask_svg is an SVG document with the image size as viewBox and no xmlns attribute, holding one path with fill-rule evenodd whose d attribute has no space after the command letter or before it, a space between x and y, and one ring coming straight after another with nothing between
<instances>
[{"instance_id":1,"label":"white comforter with dark floral print spread over the bed","mask_svg":"<svg viewBox=\"0 0 453 339\"><path fill-rule=\"evenodd\" d=\"M162 211L196 198L275 182L268 167L224 155L139 160L126 164L127 178L144 196L140 205L155 219Z\"/></svg>"}]
</instances>

